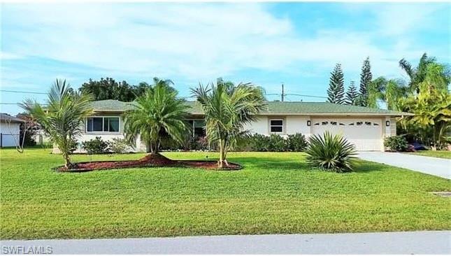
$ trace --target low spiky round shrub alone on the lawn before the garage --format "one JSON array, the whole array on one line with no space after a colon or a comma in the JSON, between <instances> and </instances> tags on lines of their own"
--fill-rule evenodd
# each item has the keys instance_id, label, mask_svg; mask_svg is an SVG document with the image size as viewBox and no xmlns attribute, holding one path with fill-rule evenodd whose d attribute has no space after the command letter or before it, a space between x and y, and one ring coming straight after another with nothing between
<instances>
[{"instance_id":1,"label":"low spiky round shrub alone on the lawn before the garage","mask_svg":"<svg viewBox=\"0 0 451 256\"><path fill-rule=\"evenodd\" d=\"M310 136L306 149L307 162L311 166L329 171L352 171L352 155L355 146L340 135L331 135L328 131L323 136Z\"/></svg>"}]
</instances>

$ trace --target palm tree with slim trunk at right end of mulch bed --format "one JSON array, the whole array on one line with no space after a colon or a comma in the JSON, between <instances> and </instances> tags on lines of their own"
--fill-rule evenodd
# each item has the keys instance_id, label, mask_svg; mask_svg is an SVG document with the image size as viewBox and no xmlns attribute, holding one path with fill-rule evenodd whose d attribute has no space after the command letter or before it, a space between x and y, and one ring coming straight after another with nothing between
<instances>
[{"instance_id":1,"label":"palm tree with slim trunk at right end of mulch bed","mask_svg":"<svg viewBox=\"0 0 451 256\"><path fill-rule=\"evenodd\" d=\"M227 150L242 134L246 123L255 121L256 114L264 108L263 90L251 83L234 85L218 79L216 85L192 89L201 104L206 121L206 134L210 143L220 150L219 168L227 166Z\"/></svg>"}]
</instances>

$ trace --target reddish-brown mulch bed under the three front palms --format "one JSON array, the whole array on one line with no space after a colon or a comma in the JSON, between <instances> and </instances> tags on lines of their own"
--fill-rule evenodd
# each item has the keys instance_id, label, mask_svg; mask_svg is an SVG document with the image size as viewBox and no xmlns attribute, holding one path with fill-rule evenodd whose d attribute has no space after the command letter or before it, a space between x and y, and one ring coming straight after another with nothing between
<instances>
[{"instance_id":1,"label":"reddish-brown mulch bed under the three front palms","mask_svg":"<svg viewBox=\"0 0 451 256\"><path fill-rule=\"evenodd\" d=\"M62 172L85 172L104 169L121 169L121 168L136 168L136 167L197 167L210 170L224 170L233 171L242 168L239 164L229 163L229 166L225 166L223 169L217 168L216 161L196 161L196 160L172 160L164 155L146 155L138 160L125 160L125 161L99 161L99 162L79 162L74 163L70 169L66 166L58 166L55 171Z\"/></svg>"}]
</instances>

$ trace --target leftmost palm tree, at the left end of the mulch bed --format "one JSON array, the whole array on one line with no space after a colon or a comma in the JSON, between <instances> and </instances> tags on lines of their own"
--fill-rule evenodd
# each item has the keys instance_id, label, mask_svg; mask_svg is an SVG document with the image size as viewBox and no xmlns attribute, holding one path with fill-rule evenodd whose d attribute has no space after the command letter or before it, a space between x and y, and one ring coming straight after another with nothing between
<instances>
[{"instance_id":1,"label":"leftmost palm tree, at the left end of the mulch bed","mask_svg":"<svg viewBox=\"0 0 451 256\"><path fill-rule=\"evenodd\" d=\"M74 92L66 80L57 79L48 94L46 106L31 99L20 104L58 146L68 169L72 166L69 154L73 140L80 135L85 119L94 113L90 106L92 99L92 94Z\"/></svg>"}]
</instances>

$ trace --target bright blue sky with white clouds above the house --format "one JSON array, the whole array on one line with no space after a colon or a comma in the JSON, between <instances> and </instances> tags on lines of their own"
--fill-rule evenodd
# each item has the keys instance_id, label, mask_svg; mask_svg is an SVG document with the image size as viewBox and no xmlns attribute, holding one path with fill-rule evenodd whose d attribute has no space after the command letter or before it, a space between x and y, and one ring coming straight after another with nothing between
<instances>
[{"instance_id":1,"label":"bright blue sky with white clouds above the house","mask_svg":"<svg viewBox=\"0 0 451 256\"><path fill-rule=\"evenodd\" d=\"M373 77L406 78L399 59L416 64L423 52L448 64L450 12L450 3L2 3L0 87L47 92L55 78L79 87L157 76L188 96L222 77L269 94L283 82L287 93L326 96L337 62L346 86L359 83L367 56ZM45 99L0 93L2 103Z\"/></svg>"}]
</instances>

